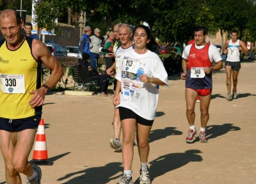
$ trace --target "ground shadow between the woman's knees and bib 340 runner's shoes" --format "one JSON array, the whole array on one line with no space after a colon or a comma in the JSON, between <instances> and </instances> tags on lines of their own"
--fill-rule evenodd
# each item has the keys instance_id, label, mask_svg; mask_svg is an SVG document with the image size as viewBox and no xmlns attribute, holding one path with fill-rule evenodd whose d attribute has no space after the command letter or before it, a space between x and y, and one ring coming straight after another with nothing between
<instances>
[{"instance_id":1,"label":"ground shadow between the woman's knees and bib 340 runner's shoes","mask_svg":"<svg viewBox=\"0 0 256 184\"><path fill-rule=\"evenodd\" d=\"M154 142L159 139L164 139L170 135L181 135L182 132L174 130L176 127L166 127L164 129L152 130L149 135L148 142Z\"/></svg>"}]
</instances>

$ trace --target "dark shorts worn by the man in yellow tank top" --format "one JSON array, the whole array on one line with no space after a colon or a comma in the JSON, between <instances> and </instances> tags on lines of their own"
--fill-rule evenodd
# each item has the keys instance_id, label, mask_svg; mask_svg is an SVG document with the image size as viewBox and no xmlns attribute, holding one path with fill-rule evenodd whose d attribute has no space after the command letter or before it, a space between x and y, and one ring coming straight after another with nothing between
<instances>
[{"instance_id":1,"label":"dark shorts worn by the man in yellow tank top","mask_svg":"<svg viewBox=\"0 0 256 184\"><path fill-rule=\"evenodd\" d=\"M20 132L26 129L34 129L38 127L40 120L41 115L22 119L0 118L0 130L6 130L8 132Z\"/></svg>"}]
</instances>

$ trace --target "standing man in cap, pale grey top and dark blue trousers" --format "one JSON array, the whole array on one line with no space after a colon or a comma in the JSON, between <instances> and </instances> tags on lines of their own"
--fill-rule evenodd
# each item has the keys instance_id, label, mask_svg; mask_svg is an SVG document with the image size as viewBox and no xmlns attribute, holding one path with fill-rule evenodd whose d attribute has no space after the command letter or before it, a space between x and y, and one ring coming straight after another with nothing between
<instances>
[{"instance_id":1,"label":"standing man in cap, pale grey top and dark blue trousers","mask_svg":"<svg viewBox=\"0 0 256 184\"><path fill-rule=\"evenodd\" d=\"M97 71L97 65L99 60L99 49L100 49L100 29L96 28L94 29L94 35L90 37L91 43L90 43L90 61L92 68ZM101 56L103 57L103 56Z\"/></svg>"}]
</instances>

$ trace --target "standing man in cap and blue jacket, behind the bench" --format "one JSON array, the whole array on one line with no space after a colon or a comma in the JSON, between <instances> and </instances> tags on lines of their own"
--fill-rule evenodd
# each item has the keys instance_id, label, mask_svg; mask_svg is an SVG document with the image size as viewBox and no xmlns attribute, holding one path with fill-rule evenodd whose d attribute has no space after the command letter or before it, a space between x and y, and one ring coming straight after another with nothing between
<instances>
[{"instance_id":1,"label":"standing man in cap and blue jacket, behind the bench","mask_svg":"<svg viewBox=\"0 0 256 184\"><path fill-rule=\"evenodd\" d=\"M86 52L90 54L90 38L89 36L92 34L92 28L90 26L84 27L84 34L81 36L79 40L79 50L78 50L78 62L80 63L83 53Z\"/></svg>"}]
</instances>

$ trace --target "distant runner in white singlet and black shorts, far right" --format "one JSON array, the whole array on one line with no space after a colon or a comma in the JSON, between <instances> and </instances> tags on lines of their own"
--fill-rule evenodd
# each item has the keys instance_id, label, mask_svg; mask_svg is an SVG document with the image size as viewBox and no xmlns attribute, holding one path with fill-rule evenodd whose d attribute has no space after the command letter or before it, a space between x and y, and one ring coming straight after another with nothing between
<instances>
[{"instance_id":1,"label":"distant runner in white singlet and black shorts, far right","mask_svg":"<svg viewBox=\"0 0 256 184\"><path fill-rule=\"evenodd\" d=\"M227 40L227 42L223 46L223 53L227 54L227 59L225 61L225 70L227 73L227 89L228 95L227 100L232 100L232 98L237 98L237 77L239 70L241 68L240 61L240 52L244 52L245 54L249 54L249 50L247 49L245 43L242 40L237 40L237 30L233 30L231 32L231 39ZM231 75L233 78L233 94L231 95Z\"/></svg>"}]
</instances>

